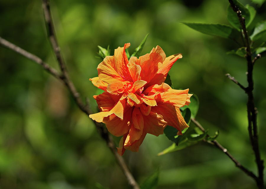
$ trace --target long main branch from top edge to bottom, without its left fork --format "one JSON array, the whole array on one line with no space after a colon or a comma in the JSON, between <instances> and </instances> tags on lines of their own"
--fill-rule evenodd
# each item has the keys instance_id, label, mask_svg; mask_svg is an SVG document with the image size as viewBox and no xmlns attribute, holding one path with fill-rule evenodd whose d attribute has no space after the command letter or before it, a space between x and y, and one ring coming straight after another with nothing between
<instances>
[{"instance_id":1,"label":"long main branch from top edge to bottom, without its left fork","mask_svg":"<svg viewBox=\"0 0 266 189\"><path fill-rule=\"evenodd\" d=\"M79 106L79 108L85 112L87 115L91 114L91 110L88 109L88 106L85 105L81 98L80 98L80 94L77 92L73 82L69 79L69 75L66 69L66 65L64 63L64 59L61 55L61 50L60 47L58 45L58 41L56 39L56 33L55 33L55 29L54 29L54 25L53 25L53 21L52 21L52 16L51 16L51 9L50 9L50 2L49 0L43 0L43 13L44 13L44 18L48 27L48 36L49 39L51 41L52 47L53 47L53 51L56 55L56 59L60 65L62 74L63 74L63 78L62 80L64 81L64 83L66 84L67 88L69 89L69 91L71 92L72 96L74 97L77 105ZM139 189L139 186L137 184L137 182L135 181L134 177L132 176L131 172L129 171L128 167L126 166L126 163L124 161L124 159L119 156L119 154L117 153L116 150L116 146L114 145L114 142L112 140L112 138L110 137L110 135L108 134L108 132L106 131L106 129L104 129L102 124L99 124L97 122L95 122L95 125L98 128L98 131L100 132L102 138L104 140L106 140L106 143L108 145L108 147L111 149L111 151L113 152L118 164L120 165L121 169L123 170L127 180L129 181L129 184L134 188L134 189Z\"/></svg>"}]
</instances>

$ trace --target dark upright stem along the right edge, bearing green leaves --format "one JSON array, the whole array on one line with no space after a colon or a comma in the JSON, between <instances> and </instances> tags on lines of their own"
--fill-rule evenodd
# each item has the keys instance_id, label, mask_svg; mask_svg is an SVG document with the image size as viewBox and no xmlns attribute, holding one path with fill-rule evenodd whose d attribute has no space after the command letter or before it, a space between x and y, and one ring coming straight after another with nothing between
<instances>
[{"instance_id":1,"label":"dark upright stem along the right edge, bearing green leaves","mask_svg":"<svg viewBox=\"0 0 266 189\"><path fill-rule=\"evenodd\" d=\"M252 149L254 151L256 157L256 164L258 168L258 178L257 186L258 188L264 188L263 183L263 160L260 157L259 151L259 143L258 143L258 131L257 131L257 108L254 105L254 97L253 97L253 89L254 89L254 82L253 82L253 65L254 62L257 60L255 59L252 61L252 51L249 43L249 36L246 30L245 18L242 17L241 11L239 8L234 4L233 0L229 0L229 3L234 12L236 12L237 17L239 19L239 23L244 33L245 38L245 45L246 45L246 60L247 60L247 81L248 87L246 88L246 93L248 95L248 102L247 102L247 113L248 113L248 131L249 131L249 138L252 145Z\"/></svg>"}]
</instances>

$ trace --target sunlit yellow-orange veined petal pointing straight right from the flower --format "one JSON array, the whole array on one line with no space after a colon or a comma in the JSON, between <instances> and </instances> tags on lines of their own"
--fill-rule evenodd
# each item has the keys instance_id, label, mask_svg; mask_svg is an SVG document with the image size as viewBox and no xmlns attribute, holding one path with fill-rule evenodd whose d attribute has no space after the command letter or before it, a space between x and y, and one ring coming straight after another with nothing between
<instances>
[{"instance_id":1,"label":"sunlit yellow-orange veined petal pointing straight right from the flower","mask_svg":"<svg viewBox=\"0 0 266 189\"><path fill-rule=\"evenodd\" d=\"M176 89L169 89L166 92L161 93L161 99L165 103L172 104L177 108L181 108L186 105L189 89L185 90L176 90Z\"/></svg>"}]
</instances>

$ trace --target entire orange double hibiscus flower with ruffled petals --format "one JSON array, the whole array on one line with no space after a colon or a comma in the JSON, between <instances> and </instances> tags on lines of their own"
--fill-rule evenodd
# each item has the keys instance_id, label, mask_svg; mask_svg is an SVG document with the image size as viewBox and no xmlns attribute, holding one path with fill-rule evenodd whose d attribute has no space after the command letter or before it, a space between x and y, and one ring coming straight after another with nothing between
<instances>
[{"instance_id":1,"label":"entire orange double hibiscus flower with ruffled petals","mask_svg":"<svg viewBox=\"0 0 266 189\"><path fill-rule=\"evenodd\" d=\"M188 125L179 108L189 105L189 89L175 90L164 83L168 71L181 54L166 57L159 46L139 58L128 60L125 49L118 47L113 56L107 56L98 65L98 77L90 79L93 85L104 90L93 97L100 109L90 118L106 124L114 136L123 136L118 153L138 151L147 133L163 134L166 125L182 134Z\"/></svg>"}]
</instances>

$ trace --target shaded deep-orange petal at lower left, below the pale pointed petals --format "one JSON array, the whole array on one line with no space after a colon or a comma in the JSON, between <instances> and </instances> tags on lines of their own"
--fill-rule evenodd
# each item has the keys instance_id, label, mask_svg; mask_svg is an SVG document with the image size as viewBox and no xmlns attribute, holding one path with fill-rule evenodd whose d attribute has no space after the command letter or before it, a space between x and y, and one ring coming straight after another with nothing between
<instances>
[{"instance_id":1,"label":"shaded deep-orange petal at lower left, below the pale pointed petals","mask_svg":"<svg viewBox=\"0 0 266 189\"><path fill-rule=\"evenodd\" d=\"M108 117L103 119L103 123L106 124L106 128L108 129L108 131L111 134L113 134L116 137L119 137L123 134L128 133L128 131L130 129L130 120L131 120L131 116L132 116L132 109L133 108L128 108L126 110L123 120L121 120L117 116L112 118L112 120L110 120ZM112 114L112 115L114 115L114 114Z\"/></svg>"}]
</instances>

